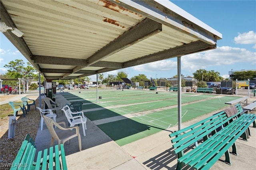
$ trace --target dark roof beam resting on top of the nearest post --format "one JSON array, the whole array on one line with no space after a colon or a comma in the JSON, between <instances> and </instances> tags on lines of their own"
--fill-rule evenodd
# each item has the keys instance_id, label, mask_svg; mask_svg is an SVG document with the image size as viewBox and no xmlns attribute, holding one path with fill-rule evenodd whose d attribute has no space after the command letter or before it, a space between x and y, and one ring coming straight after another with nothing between
<instances>
[{"instance_id":1,"label":"dark roof beam resting on top of the nearest post","mask_svg":"<svg viewBox=\"0 0 256 170\"><path fill-rule=\"evenodd\" d=\"M140 65L144 63L150 63L154 61L160 61L163 59L169 59L173 57L178 57L181 55L196 53L199 51L205 51L209 49L215 49L216 45L210 45L208 43L204 43L201 41L185 44L182 46L166 49L164 51L160 51L158 53L146 55L144 57L141 57L139 59L134 59L128 62L124 63L124 68L126 67L132 67L135 65Z\"/></svg>"}]
</instances>

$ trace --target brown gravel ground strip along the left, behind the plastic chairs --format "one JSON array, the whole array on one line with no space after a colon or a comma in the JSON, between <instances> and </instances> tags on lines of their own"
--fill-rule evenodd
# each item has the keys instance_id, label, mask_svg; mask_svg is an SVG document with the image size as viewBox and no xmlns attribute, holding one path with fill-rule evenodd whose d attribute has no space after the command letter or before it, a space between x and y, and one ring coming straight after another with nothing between
<instances>
[{"instance_id":1,"label":"brown gravel ground strip along the left, behind the plastic chairs","mask_svg":"<svg viewBox=\"0 0 256 170\"><path fill-rule=\"evenodd\" d=\"M36 99L36 106L39 106L39 99ZM42 99L43 103L43 99ZM22 112L21 112L22 113ZM19 113L20 114L20 113ZM1 170L8 170L10 164L15 159L22 141L24 140L26 134L30 134L30 136L35 139L36 133L38 131L39 123L40 123L40 113L38 109L36 110L34 106L30 107L30 111L23 117L20 115L16 117L16 130L15 130L15 137L12 139L8 139L8 127L7 129L3 129L1 127L1 131L4 134L0 138L0 169ZM1 122L6 122L8 126L9 119L2 119ZM6 126L5 126L6 127Z\"/></svg>"}]
</instances>

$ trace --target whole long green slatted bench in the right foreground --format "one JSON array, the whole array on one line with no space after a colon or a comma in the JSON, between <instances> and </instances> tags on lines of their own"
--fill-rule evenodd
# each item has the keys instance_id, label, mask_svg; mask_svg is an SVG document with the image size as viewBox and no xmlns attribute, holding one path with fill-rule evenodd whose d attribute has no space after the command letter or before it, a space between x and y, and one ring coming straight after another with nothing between
<instances>
[{"instance_id":1,"label":"whole long green slatted bench in the right foreground","mask_svg":"<svg viewBox=\"0 0 256 170\"><path fill-rule=\"evenodd\" d=\"M178 154L176 170L188 165L198 170L208 170L225 154L225 162L231 164L229 148L237 155L236 140L242 136L247 140L246 129L250 135L249 125L256 127L255 114L241 114L242 107L236 105L238 113L227 117L224 111L216 113L194 125L173 132L174 152Z\"/></svg>"}]
</instances>

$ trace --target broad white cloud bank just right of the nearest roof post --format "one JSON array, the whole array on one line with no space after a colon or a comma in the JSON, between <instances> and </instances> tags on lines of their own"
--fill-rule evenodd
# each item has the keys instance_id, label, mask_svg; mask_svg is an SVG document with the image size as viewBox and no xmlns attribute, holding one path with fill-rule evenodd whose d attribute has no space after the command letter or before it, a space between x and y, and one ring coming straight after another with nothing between
<instances>
[{"instance_id":1,"label":"broad white cloud bank just right of the nearest roof post","mask_svg":"<svg viewBox=\"0 0 256 170\"><path fill-rule=\"evenodd\" d=\"M256 64L256 53L244 48L222 46L214 50L194 53L181 57L182 69L196 71L209 66L233 65L235 63Z\"/></svg>"}]
</instances>

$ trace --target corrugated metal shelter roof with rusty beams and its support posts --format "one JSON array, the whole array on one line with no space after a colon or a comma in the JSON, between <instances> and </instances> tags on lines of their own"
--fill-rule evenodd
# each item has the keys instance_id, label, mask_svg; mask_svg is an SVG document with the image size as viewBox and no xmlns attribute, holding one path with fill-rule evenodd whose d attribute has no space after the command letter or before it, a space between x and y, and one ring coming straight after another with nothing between
<instances>
[{"instance_id":1,"label":"corrugated metal shelter roof with rusty beams and its support posts","mask_svg":"<svg viewBox=\"0 0 256 170\"><path fill-rule=\"evenodd\" d=\"M215 49L222 38L168 0L1 0L0 14L24 33L3 34L48 80L177 57L179 130L180 56Z\"/></svg>"}]
</instances>

